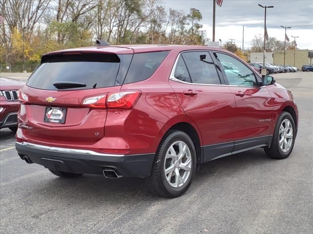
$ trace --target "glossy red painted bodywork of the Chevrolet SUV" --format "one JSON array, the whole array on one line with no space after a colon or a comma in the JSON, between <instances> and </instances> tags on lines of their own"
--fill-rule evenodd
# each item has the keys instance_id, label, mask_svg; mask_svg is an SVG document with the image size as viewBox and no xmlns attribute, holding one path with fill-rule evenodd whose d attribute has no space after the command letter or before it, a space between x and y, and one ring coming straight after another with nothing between
<instances>
[{"instance_id":1,"label":"glossy red painted bodywork of the Chevrolet SUV","mask_svg":"<svg viewBox=\"0 0 313 234\"><path fill-rule=\"evenodd\" d=\"M203 146L272 135L284 107L291 106L298 113L289 91L276 84L247 88L169 80L179 53L200 49L229 53L204 46L142 45L63 51L131 54L168 50L170 53L152 77L136 83L75 91L24 86L22 92L28 96L28 101L22 105L19 118L32 129L19 128L17 141L114 154L155 153L165 132L180 122L194 127ZM133 104L127 104L127 108L119 108L116 103L115 109L103 105L102 109L96 109L82 104L89 97L106 95L108 100L110 94L125 91L138 92L132 99ZM56 100L48 103L47 97ZM124 101L125 104L127 100ZM67 107L65 124L44 122L46 106ZM260 119L269 118L272 120L260 122Z\"/></svg>"}]
</instances>

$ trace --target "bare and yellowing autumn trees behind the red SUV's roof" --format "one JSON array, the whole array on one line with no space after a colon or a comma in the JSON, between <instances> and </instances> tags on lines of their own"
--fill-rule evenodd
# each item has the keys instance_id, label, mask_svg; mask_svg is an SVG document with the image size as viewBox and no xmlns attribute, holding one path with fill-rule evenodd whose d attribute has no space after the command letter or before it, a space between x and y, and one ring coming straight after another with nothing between
<instances>
[{"instance_id":1,"label":"bare and yellowing autumn trees behind the red SUV's roof","mask_svg":"<svg viewBox=\"0 0 313 234\"><path fill-rule=\"evenodd\" d=\"M111 44L201 44L200 10L161 0L1 0L0 63L34 68L41 55L65 48ZM205 41L205 35L203 35ZM30 70L30 69L29 69Z\"/></svg>"}]
</instances>

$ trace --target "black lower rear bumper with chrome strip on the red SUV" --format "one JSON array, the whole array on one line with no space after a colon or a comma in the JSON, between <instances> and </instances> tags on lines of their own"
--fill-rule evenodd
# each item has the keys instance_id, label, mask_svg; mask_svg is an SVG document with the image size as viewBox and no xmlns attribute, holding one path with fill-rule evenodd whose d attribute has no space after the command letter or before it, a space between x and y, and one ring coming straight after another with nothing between
<instances>
[{"instance_id":1,"label":"black lower rear bumper with chrome strip on the red SUV","mask_svg":"<svg viewBox=\"0 0 313 234\"><path fill-rule=\"evenodd\" d=\"M103 169L114 169L119 176L147 177L155 154L112 155L89 150L76 150L27 142L16 142L18 154L50 170L103 175Z\"/></svg>"}]
</instances>

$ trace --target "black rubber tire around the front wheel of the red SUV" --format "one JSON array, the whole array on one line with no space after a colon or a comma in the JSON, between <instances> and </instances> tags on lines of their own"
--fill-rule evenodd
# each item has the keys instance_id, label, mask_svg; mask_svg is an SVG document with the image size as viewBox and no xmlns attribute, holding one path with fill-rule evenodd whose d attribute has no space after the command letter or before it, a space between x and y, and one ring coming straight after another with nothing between
<instances>
[{"instance_id":1,"label":"black rubber tire around the front wheel of the red SUV","mask_svg":"<svg viewBox=\"0 0 313 234\"><path fill-rule=\"evenodd\" d=\"M285 120L285 119L289 119L292 125L292 142L291 142L291 147L287 152L283 152L282 149L279 146L279 129L280 129L280 125L281 123ZM265 148L265 153L271 157L271 158L275 158L275 159L284 159L287 158L288 156L290 156L293 146L294 146L294 140L295 140L295 123L294 120L291 116L291 114L289 112L285 112L283 111L282 114L278 117L277 119L277 123L275 126L275 131L274 131L274 135L272 138L272 142L269 148Z\"/></svg>"}]
</instances>

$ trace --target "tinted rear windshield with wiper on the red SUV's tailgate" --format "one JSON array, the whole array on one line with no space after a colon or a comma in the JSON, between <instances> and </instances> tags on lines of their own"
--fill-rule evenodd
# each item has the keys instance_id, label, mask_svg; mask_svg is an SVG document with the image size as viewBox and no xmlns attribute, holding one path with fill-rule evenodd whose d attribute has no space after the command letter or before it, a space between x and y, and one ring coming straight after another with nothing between
<instances>
[{"instance_id":1,"label":"tinted rear windshield with wiper on the red SUV's tailgate","mask_svg":"<svg viewBox=\"0 0 313 234\"><path fill-rule=\"evenodd\" d=\"M85 85L67 90L111 87L115 84L119 66L120 59L114 54L44 56L40 66L28 79L27 85L45 90L59 90L53 85L55 82Z\"/></svg>"}]
</instances>

